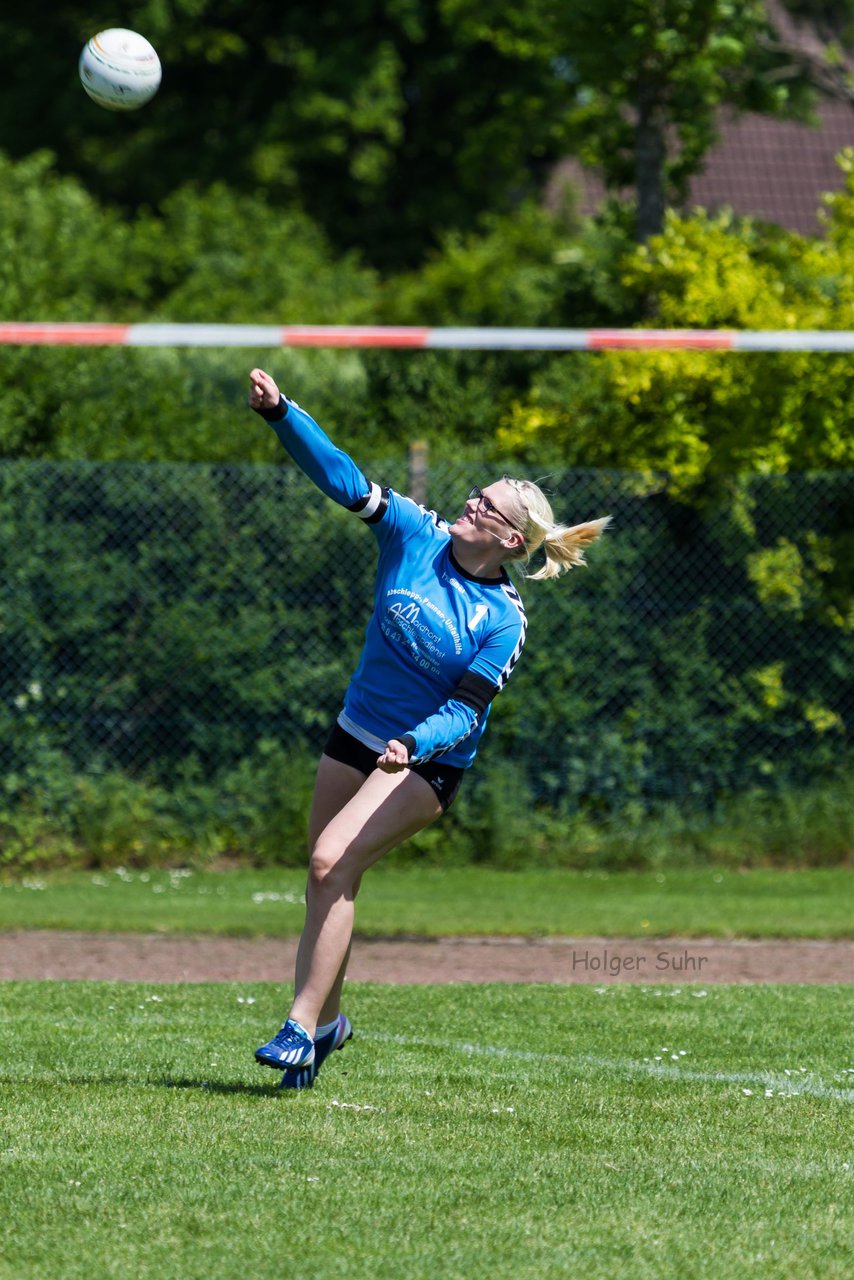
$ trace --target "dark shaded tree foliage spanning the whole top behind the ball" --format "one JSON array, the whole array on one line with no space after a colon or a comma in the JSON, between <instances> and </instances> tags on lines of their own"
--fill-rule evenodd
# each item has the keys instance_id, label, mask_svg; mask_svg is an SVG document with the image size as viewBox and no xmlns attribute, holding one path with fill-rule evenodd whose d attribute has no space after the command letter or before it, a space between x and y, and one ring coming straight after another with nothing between
<instances>
[{"instance_id":1,"label":"dark shaded tree foliage spanning the whole top behind the ball","mask_svg":"<svg viewBox=\"0 0 854 1280\"><path fill-rule=\"evenodd\" d=\"M384 270L538 196L567 154L638 188L645 238L721 104L803 116L823 83L823 64L771 38L764 0L131 0L122 23L159 49L164 82L124 115L77 83L105 22L77 0L0 17L0 148L49 147L125 209L222 182L303 210Z\"/></svg>"}]
</instances>

